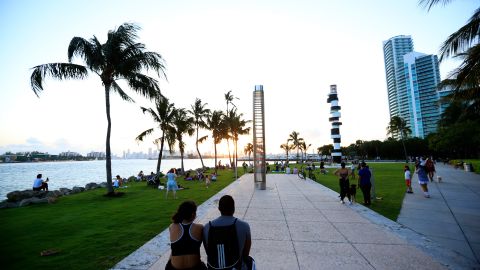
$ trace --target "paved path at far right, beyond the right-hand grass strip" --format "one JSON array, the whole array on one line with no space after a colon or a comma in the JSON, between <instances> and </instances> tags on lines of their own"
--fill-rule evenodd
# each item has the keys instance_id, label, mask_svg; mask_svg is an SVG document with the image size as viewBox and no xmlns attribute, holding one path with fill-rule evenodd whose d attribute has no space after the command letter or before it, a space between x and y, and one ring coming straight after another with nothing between
<instances>
[{"instance_id":1,"label":"paved path at far right, beyond the right-hand grass strip","mask_svg":"<svg viewBox=\"0 0 480 270\"><path fill-rule=\"evenodd\" d=\"M429 199L414 175L415 193L405 194L397 222L480 263L480 175L443 164L436 171Z\"/></svg>"}]
</instances>

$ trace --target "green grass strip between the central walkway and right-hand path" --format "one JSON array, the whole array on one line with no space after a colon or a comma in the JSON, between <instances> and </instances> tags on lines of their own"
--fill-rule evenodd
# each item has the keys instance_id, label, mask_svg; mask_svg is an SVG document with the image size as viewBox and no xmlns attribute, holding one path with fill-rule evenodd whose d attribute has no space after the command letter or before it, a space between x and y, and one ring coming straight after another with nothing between
<instances>
[{"instance_id":1,"label":"green grass strip between the central walkway and right-hand path","mask_svg":"<svg viewBox=\"0 0 480 270\"><path fill-rule=\"evenodd\" d=\"M375 195L379 200L372 200L370 209L396 221L402 207L403 196L405 195L405 178L403 174L404 163L369 163L375 182ZM293 166L299 166L294 164ZM333 175L335 169L328 169L327 175L321 175L317 165L315 176L317 182L340 193L338 177ZM273 170L273 166L271 166ZM410 166L412 169L412 166ZM358 171L355 171L357 174ZM412 169L413 173L413 169ZM350 184L357 184L356 179L350 179ZM357 203L363 204L363 194L357 189Z\"/></svg>"}]
</instances>

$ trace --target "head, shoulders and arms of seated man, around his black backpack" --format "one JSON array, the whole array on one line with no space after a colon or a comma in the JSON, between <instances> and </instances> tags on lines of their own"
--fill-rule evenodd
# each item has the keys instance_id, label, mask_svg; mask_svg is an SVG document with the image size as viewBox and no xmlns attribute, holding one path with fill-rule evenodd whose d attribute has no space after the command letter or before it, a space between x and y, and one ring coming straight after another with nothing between
<instances>
[{"instance_id":1,"label":"head, shoulders and arms of seated man, around his black backpack","mask_svg":"<svg viewBox=\"0 0 480 270\"><path fill-rule=\"evenodd\" d=\"M245 260L247 260L249 256L250 247L252 245L250 225L248 225L247 222L242 221L233 216L233 214L235 213L235 201L230 195L224 195L222 198L220 198L220 201L218 202L218 210L220 210L221 216L205 224L203 228L203 241L204 241L203 245L207 252L207 256L211 256L211 254L210 255L208 254L208 251L209 251L208 235L209 235L210 226L226 227L226 226L231 226L235 224L235 229L236 229L237 239L238 239L238 250L239 250L238 257L243 261L242 269L244 269Z\"/></svg>"}]
</instances>

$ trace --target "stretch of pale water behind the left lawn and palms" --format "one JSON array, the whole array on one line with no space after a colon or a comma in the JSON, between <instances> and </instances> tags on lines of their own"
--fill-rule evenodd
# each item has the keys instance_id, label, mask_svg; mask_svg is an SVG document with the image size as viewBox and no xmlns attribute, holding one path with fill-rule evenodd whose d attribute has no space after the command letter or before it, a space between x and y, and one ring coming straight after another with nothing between
<instances>
[{"instance_id":1,"label":"stretch of pale water behind the left lawn and palms","mask_svg":"<svg viewBox=\"0 0 480 270\"><path fill-rule=\"evenodd\" d=\"M219 159L227 164L227 159ZM203 159L207 167L213 167L214 159ZM162 160L161 171L166 173L170 168L180 168L180 159ZM202 167L200 159L184 159L185 170ZM112 177L117 174L128 178L136 176L141 170L145 175L155 172L156 160L121 159L112 160ZM86 184L106 182L105 160L65 161L65 162L33 162L33 163L0 163L0 201L6 199L7 193L14 190L31 189L33 180L41 173L43 179L49 178L48 189L85 187Z\"/></svg>"}]
</instances>

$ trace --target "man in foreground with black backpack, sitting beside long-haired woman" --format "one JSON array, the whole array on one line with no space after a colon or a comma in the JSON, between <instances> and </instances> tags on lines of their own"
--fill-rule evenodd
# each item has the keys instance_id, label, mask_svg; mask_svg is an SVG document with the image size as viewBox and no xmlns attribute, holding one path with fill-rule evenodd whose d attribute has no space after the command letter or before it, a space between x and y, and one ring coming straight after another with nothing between
<instances>
[{"instance_id":1,"label":"man in foreground with black backpack, sitting beside long-haired woman","mask_svg":"<svg viewBox=\"0 0 480 270\"><path fill-rule=\"evenodd\" d=\"M250 269L252 238L250 225L233 216L235 201L224 195L218 202L220 217L203 227L203 245L211 269Z\"/></svg>"}]
</instances>

